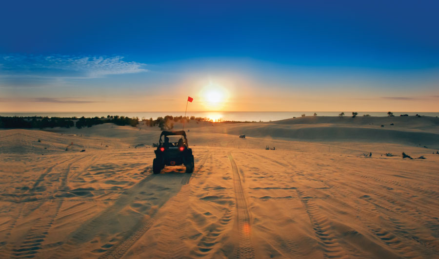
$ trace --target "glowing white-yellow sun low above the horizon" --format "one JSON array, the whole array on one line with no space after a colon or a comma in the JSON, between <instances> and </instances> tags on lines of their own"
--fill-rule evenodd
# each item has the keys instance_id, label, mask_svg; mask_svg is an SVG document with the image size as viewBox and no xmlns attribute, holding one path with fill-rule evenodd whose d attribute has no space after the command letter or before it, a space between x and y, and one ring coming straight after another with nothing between
<instances>
[{"instance_id":1,"label":"glowing white-yellow sun low above the horizon","mask_svg":"<svg viewBox=\"0 0 439 259\"><path fill-rule=\"evenodd\" d=\"M221 110L225 106L228 98L227 90L219 84L212 82L201 90L200 95L204 106L210 111Z\"/></svg>"}]
</instances>

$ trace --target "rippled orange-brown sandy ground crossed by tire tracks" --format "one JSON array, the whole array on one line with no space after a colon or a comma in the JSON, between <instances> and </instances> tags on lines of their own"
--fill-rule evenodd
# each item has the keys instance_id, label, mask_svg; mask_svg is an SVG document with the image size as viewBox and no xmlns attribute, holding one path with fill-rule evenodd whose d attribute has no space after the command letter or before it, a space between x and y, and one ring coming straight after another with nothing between
<instances>
[{"instance_id":1,"label":"rippled orange-brown sandy ground crossed by tire tracks","mask_svg":"<svg viewBox=\"0 0 439 259\"><path fill-rule=\"evenodd\" d=\"M0 258L439 258L439 119L350 119L0 130Z\"/></svg>"}]
</instances>

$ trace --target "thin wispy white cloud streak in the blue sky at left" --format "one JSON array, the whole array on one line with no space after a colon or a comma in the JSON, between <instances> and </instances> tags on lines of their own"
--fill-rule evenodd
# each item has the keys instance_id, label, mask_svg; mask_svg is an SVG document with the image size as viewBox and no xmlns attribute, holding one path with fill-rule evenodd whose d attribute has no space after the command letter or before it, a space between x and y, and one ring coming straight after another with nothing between
<instances>
[{"instance_id":1,"label":"thin wispy white cloud streak in the blue sky at left","mask_svg":"<svg viewBox=\"0 0 439 259\"><path fill-rule=\"evenodd\" d=\"M98 78L111 74L147 72L146 64L123 56L0 56L0 74L7 77Z\"/></svg>"}]
</instances>

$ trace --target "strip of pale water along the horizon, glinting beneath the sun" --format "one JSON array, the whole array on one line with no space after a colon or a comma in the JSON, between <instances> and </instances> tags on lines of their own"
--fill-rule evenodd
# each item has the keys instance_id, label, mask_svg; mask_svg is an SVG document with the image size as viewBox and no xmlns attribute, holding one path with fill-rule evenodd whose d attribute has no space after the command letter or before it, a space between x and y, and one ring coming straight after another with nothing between
<instances>
[{"instance_id":1,"label":"strip of pale water along the horizon, glinting beneath the sun","mask_svg":"<svg viewBox=\"0 0 439 259\"><path fill-rule=\"evenodd\" d=\"M293 117L300 117L301 114L312 116L314 112L318 116L338 116L340 111L224 111L224 112L192 112L188 111L186 116L195 116L202 118L209 118L211 120L227 120L227 121L277 121L289 119ZM352 115L352 112L344 112L346 116ZM371 116L387 116L387 112L359 112L357 116L369 114ZM423 116L439 116L439 112L394 112L395 116L400 114L408 115L423 115ZM182 111L168 111L168 112L0 112L0 116L48 116L48 117L106 117L107 115L119 115L126 117L138 117L139 119L157 119L157 117L164 117L166 115L184 116Z\"/></svg>"}]
</instances>

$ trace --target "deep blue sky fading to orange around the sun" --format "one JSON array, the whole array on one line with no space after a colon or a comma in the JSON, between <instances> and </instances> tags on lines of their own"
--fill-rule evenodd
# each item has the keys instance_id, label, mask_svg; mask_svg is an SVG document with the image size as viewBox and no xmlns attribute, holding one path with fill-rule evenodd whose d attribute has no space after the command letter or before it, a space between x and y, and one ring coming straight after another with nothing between
<instances>
[{"instance_id":1,"label":"deep blue sky fading to orange around the sun","mask_svg":"<svg viewBox=\"0 0 439 259\"><path fill-rule=\"evenodd\" d=\"M439 111L438 1L2 6L0 111Z\"/></svg>"}]
</instances>

